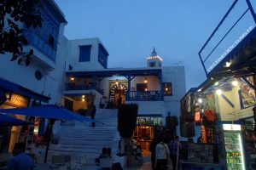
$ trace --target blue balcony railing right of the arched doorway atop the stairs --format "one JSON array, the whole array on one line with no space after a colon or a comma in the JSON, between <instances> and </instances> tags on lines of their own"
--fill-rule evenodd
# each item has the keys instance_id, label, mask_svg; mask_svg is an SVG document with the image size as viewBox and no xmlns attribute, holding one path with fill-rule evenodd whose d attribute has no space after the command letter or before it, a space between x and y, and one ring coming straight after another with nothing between
<instances>
[{"instance_id":1,"label":"blue balcony railing right of the arched doorway atop the stairs","mask_svg":"<svg viewBox=\"0 0 256 170\"><path fill-rule=\"evenodd\" d=\"M163 94L160 91L131 91L126 95L127 101L162 101Z\"/></svg>"}]
</instances>

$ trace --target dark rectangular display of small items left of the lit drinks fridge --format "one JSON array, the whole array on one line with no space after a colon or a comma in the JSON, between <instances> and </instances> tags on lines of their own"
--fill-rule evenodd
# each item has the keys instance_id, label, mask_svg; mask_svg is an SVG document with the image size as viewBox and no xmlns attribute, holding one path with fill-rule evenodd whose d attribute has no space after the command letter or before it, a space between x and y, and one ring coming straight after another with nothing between
<instances>
[{"instance_id":1,"label":"dark rectangular display of small items left of the lit drinks fridge","mask_svg":"<svg viewBox=\"0 0 256 170\"><path fill-rule=\"evenodd\" d=\"M212 144L188 144L188 161L213 163Z\"/></svg>"}]
</instances>

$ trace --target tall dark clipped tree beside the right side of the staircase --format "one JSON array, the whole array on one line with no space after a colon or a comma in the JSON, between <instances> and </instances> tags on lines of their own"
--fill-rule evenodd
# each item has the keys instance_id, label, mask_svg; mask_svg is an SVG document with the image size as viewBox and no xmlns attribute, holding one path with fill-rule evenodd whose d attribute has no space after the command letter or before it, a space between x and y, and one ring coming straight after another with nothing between
<instances>
[{"instance_id":1,"label":"tall dark clipped tree beside the right side of the staircase","mask_svg":"<svg viewBox=\"0 0 256 170\"><path fill-rule=\"evenodd\" d=\"M121 155L127 151L128 166L131 162L130 139L137 122L137 104L121 105L118 112L118 130L121 137Z\"/></svg>"}]
</instances>

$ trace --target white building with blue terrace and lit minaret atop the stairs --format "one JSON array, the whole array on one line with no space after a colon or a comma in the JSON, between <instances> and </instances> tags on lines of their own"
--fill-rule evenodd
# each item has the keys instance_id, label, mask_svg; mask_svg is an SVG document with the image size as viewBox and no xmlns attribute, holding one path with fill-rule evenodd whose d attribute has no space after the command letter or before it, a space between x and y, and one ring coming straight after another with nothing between
<instances>
[{"instance_id":1,"label":"white building with blue terrace and lit minaret atop the stairs","mask_svg":"<svg viewBox=\"0 0 256 170\"><path fill-rule=\"evenodd\" d=\"M163 67L155 50L147 58L147 67L108 68L108 51L99 38L90 38L68 41L67 58L67 108L88 109L84 100L89 96L95 96L96 107L101 99L117 105L121 95L122 103L137 103L138 115L154 123L166 124L168 111L179 116L179 101L185 94L184 67Z\"/></svg>"}]
</instances>

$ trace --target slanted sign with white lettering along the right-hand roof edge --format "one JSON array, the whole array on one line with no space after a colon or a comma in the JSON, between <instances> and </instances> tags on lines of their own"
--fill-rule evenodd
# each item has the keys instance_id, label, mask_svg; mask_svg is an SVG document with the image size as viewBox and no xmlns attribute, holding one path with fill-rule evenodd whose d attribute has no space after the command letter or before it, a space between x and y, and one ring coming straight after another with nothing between
<instances>
[{"instance_id":1,"label":"slanted sign with white lettering along the right-hand roof edge","mask_svg":"<svg viewBox=\"0 0 256 170\"><path fill-rule=\"evenodd\" d=\"M223 54L221 54L220 57L214 61L214 63L212 63L212 65L207 69L207 72L212 71L212 69L213 69L216 65L218 65L218 63L219 63L222 59L224 59L224 57L226 57L228 54L230 54L230 51L231 51L232 49L236 48L236 45L237 45L239 42L241 42L241 40L243 40L243 38L246 37L247 34L248 34L250 31L253 30L253 28L254 28L253 26L250 26L250 27L247 29L247 31L243 32L243 33L241 34L241 37L239 37L239 38L236 40L236 42L234 42L229 48L227 48L226 51L225 51Z\"/></svg>"}]
</instances>

